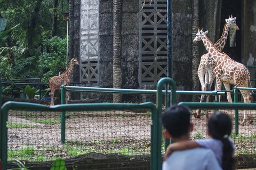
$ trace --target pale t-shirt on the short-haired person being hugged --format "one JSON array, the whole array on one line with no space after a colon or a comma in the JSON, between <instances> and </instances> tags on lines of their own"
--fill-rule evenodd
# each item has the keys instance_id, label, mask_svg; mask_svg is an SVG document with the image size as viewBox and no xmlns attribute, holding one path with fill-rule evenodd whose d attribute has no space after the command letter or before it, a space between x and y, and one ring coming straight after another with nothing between
<instances>
[{"instance_id":1,"label":"pale t-shirt on the short-haired person being hugged","mask_svg":"<svg viewBox=\"0 0 256 170\"><path fill-rule=\"evenodd\" d=\"M214 153L206 148L178 150L163 162L162 170L221 170Z\"/></svg>"}]
</instances>

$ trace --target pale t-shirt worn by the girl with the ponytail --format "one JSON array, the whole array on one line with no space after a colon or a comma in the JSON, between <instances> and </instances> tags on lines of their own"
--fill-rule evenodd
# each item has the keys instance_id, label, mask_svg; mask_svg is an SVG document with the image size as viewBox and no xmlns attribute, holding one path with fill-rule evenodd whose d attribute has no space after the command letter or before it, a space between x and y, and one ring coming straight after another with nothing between
<instances>
[{"instance_id":1,"label":"pale t-shirt worn by the girl with the ponytail","mask_svg":"<svg viewBox=\"0 0 256 170\"><path fill-rule=\"evenodd\" d=\"M234 144L233 144L233 141L231 140L231 138L229 137L228 138L233 149L235 148L234 147ZM217 157L217 160L219 161L219 164L222 165L222 155L223 155L223 143L221 142L221 140L218 140L218 139L197 139L195 140L195 142L197 144L199 144L201 147L204 147L204 148L208 148L208 149L211 149L213 151L213 153L215 154L215 156Z\"/></svg>"}]
</instances>

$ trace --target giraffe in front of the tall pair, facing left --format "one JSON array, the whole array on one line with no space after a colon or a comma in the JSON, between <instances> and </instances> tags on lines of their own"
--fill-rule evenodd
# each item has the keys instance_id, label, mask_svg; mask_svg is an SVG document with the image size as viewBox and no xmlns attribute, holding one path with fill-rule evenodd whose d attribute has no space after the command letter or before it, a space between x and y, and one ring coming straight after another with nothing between
<instances>
[{"instance_id":1,"label":"giraffe in front of the tall pair, facing left","mask_svg":"<svg viewBox=\"0 0 256 170\"><path fill-rule=\"evenodd\" d=\"M216 77L217 90L221 90L222 83L226 90L229 90L229 84L235 84L237 87L248 87L248 81L250 81L249 70L244 64L234 61L226 53L219 51L206 36L207 33L208 31L204 32L203 29L198 29L193 43L202 40L209 57L215 61L216 67L213 71ZM244 98L244 102L251 103L252 94L246 90L240 90L240 92ZM228 102L232 102L230 93L228 93L227 98ZM245 124L246 118L247 113L244 111L244 118L241 125ZM252 123L251 112L249 112L249 123Z\"/></svg>"}]
</instances>

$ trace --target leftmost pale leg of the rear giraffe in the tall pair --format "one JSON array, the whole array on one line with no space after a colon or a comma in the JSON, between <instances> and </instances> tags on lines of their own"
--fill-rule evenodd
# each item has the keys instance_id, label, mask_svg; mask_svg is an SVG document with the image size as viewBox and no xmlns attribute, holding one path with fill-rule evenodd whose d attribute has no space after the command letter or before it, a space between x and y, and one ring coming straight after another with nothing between
<instances>
[{"instance_id":1,"label":"leftmost pale leg of the rear giraffe in the tall pair","mask_svg":"<svg viewBox=\"0 0 256 170\"><path fill-rule=\"evenodd\" d=\"M202 57L201 57L201 61L200 61L200 64L199 64L199 67L198 67L198 70L197 70L197 76L198 76L200 84L201 84L201 90L206 91L206 86L205 86L205 81L204 81L205 80L206 68L205 68L205 64L204 64L204 59L202 59ZM203 102L204 96L205 96L204 94L201 95L200 102ZM201 110L200 109L196 110L196 112L194 114L194 117L196 117L196 118L201 117Z\"/></svg>"}]
</instances>

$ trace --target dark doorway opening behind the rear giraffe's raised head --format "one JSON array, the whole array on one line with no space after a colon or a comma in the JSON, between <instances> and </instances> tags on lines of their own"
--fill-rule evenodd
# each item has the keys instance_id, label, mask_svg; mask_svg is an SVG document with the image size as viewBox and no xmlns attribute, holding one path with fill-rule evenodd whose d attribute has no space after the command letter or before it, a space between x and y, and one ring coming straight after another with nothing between
<instances>
[{"instance_id":1,"label":"dark doorway opening behind the rear giraffe's raised head","mask_svg":"<svg viewBox=\"0 0 256 170\"><path fill-rule=\"evenodd\" d=\"M239 27L239 30L236 31L235 45L230 44L229 36L227 43L223 49L223 52L228 54L231 59L241 63L241 8L242 4L240 0L225 0L222 1L221 5L221 20L220 20L220 36L223 31L223 27L226 23L225 19L228 19L228 15L233 15L233 18L236 17L236 25Z\"/></svg>"}]
</instances>

